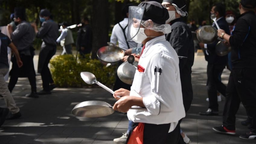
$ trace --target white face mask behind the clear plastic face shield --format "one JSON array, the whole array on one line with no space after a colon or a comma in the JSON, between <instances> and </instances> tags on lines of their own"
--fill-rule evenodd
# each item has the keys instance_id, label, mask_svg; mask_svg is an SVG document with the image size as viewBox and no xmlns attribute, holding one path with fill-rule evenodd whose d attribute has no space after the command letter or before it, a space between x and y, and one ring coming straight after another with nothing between
<instances>
[{"instance_id":1,"label":"white face mask behind the clear plastic face shield","mask_svg":"<svg viewBox=\"0 0 256 144\"><path fill-rule=\"evenodd\" d=\"M138 34L136 35L137 31L139 29ZM131 37L133 37L133 41L136 43L142 43L148 36L144 33L145 28L135 28L133 25L131 26ZM135 36L136 35L136 36ZM135 37L134 37L135 36Z\"/></svg>"}]
</instances>

